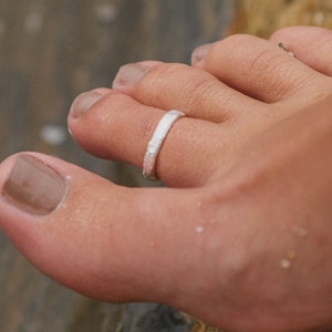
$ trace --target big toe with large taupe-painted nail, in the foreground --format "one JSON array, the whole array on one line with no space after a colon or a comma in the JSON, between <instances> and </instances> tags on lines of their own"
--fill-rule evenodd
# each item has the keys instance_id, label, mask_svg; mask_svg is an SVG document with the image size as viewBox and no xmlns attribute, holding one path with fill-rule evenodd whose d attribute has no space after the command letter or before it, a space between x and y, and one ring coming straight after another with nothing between
<instances>
[{"instance_id":1,"label":"big toe with large taupe-painted nail, in the foreground","mask_svg":"<svg viewBox=\"0 0 332 332\"><path fill-rule=\"evenodd\" d=\"M1 230L50 278L103 301L174 302L198 190L123 188L35 153L6 159L0 188Z\"/></svg>"}]
</instances>

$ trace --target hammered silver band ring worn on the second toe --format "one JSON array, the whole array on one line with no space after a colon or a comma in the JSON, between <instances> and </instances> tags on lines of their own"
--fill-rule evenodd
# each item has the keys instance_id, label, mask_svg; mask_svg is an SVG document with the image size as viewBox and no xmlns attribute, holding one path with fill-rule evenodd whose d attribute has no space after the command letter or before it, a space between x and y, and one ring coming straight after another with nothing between
<instances>
[{"instance_id":1,"label":"hammered silver band ring worn on the second toe","mask_svg":"<svg viewBox=\"0 0 332 332\"><path fill-rule=\"evenodd\" d=\"M159 121L157 127L155 128L152 135L152 138L147 144L146 153L144 155L143 175L147 179L152 181L158 180L156 176L156 162L159 149L174 123L185 115L186 114L180 111L170 110Z\"/></svg>"}]
</instances>

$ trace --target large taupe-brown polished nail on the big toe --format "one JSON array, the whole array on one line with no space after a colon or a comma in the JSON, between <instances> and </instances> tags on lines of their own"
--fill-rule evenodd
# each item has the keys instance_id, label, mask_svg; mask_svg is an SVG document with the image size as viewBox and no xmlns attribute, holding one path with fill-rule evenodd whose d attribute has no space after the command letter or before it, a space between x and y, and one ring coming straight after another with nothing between
<instances>
[{"instance_id":1,"label":"large taupe-brown polished nail on the big toe","mask_svg":"<svg viewBox=\"0 0 332 332\"><path fill-rule=\"evenodd\" d=\"M62 201L65 179L43 162L21 155L6 180L1 195L12 206L32 214L49 215Z\"/></svg>"}]
</instances>

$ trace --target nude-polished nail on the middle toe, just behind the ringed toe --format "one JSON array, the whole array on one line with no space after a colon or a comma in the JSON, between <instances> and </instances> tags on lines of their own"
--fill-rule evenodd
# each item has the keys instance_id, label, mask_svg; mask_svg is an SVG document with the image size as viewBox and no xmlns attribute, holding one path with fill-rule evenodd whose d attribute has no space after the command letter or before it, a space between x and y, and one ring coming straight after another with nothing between
<instances>
[{"instance_id":1,"label":"nude-polished nail on the middle toe, just behind the ringed toe","mask_svg":"<svg viewBox=\"0 0 332 332\"><path fill-rule=\"evenodd\" d=\"M147 66L138 63L123 65L114 79L113 89L123 89L135 85L147 71Z\"/></svg>"}]
</instances>

